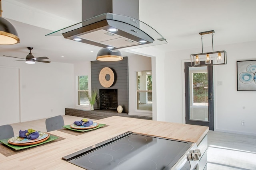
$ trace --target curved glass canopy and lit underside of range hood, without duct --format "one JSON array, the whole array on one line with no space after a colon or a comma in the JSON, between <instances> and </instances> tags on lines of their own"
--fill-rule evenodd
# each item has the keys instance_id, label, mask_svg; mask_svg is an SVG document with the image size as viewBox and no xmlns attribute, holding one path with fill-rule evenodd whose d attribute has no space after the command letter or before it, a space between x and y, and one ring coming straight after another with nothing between
<instances>
[{"instance_id":1,"label":"curved glass canopy and lit underside of range hood, without duct","mask_svg":"<svg viewBox=\"0 0 256 170\"><path fill-rule=\"evenodd\" d=\"M156 30L135 18L104 13L48 35L61 33L64 38L108 48L127 50L167 43Z\"/></svg>"}]
</instances>

